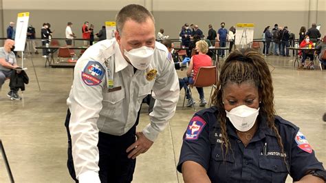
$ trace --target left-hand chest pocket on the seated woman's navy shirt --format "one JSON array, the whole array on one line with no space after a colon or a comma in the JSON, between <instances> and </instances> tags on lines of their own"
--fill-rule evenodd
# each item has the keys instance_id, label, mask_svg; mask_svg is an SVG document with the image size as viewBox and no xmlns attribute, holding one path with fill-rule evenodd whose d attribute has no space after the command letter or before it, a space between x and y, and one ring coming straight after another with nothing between
<instances>
[{"instance_id":1,"label":"left-hand chest pocket on the seated woman's navy shirt","mask_svg":"<svg viewBox=\"0 0 326 183\"><path fill-rule=\"evenodd\" d=\"M232 156L232 151L223 155L221 144L215 144L210 153L210 165L208 169L208 176L212 182L230 182L230 171L235 166L235 158Z\"/></svg>"}]
</instances>

